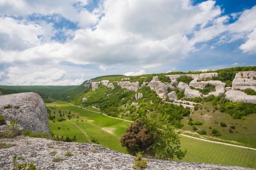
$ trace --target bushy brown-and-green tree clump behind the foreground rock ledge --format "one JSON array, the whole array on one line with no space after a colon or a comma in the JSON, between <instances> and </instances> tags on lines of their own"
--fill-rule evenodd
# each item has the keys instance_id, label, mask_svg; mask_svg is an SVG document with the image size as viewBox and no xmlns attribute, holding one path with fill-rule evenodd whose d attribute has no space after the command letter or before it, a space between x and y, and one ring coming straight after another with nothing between
<instances>
[{"instance_id":1,"label":"bushy brown-and-green tree clump behind the foreground rock ledge","mask_svg":"<svg viewBox=\"0 0 256 170\"><path fill-rule=\"evenodd\" d=\"M152 119L137 119L130 124L126 134L121 137L121 145L132 155L144 152L161 159L176 156L181 160L186 154L186 150L180 149L180 139L174 128Z\"/></svg>"}]
</instances>

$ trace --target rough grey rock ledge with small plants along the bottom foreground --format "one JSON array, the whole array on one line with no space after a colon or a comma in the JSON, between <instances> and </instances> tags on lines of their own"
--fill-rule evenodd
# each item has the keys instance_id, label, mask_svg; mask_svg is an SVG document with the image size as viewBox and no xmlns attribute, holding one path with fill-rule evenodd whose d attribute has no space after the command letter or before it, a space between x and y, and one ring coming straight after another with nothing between
<instances>
[{"instance_id":1,"label":"rough grey rock ledge with small plants along the bottom foreground","mask_svg":"<svg viewBox=\"0 0 256 170\"><path fill-rule=\"evenodd\" d=\"M15 144L10 148L0 149L1 170L12 169L14 155L23 156L24 161L32 162L37 169L42 170L132 170L133 156L110 150L101 145L52 141L43 138L16 137L0 139L0 142ZM56 150L56 155L49 155ZM63 154L72 151L74 156ZM54 158L64 158L53 162ZM249 168L234 166L219 166L205 163L189 163L148 159L146 170L249 170Z\"/></svg>"}]
</instances>

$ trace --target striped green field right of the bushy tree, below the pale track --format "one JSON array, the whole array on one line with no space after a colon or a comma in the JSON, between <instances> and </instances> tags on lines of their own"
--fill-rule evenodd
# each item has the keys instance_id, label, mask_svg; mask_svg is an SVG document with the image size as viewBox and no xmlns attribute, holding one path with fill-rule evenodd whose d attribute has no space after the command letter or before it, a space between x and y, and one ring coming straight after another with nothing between
<instances>
[{"instance_id":1,"label":"striped green field right of the bushy tree, below the pale track","mask_svg":"<svg viewBox=\"0 0 256 170\"><path fill-rule=\"evenodd\" d=\"M213 144L183 136L180 140L181 148L187 149L182 161L256 168L256 150Z\"/></svg>"}]
</instances>

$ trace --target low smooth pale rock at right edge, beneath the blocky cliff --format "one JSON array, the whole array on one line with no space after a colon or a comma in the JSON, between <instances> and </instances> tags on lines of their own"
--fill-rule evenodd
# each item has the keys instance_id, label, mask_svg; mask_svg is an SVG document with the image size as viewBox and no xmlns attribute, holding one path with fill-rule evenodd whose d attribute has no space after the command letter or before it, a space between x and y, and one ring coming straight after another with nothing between
<instances>
[{"instance_id":1,"label":"low smooth pale rock at right edge, beneath the blocky cliff","mask_svg":"<svg viewBox=\"0 0 256 170\"><path fill-rule=\"evenodd\" d=\"M232 102L254 103L256 104L256 96L247 95L243 91L231 89L225 93L226 98Z\"/></svg>"}]
</instances>

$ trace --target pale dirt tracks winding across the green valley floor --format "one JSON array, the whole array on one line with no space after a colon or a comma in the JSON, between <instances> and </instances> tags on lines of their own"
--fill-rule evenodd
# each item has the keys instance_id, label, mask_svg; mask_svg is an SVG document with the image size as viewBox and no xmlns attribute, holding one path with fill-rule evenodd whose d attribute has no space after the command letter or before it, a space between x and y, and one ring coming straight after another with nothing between
<instances>
[{"instance_id":1,"label":"pale dirt tracks winding across the green valley floor","mask_svg":"<svg viewBox=\"0 0 256 170\"><path fill-rule=\"evenodd\" d=\"M69 104L70 104L70 103L69 103ZM76 106L76 105L74 105L74 104L71 104L71 105ZM79 107L79 106L77 106L77 107ZM83 107L82 107L82 108L83 108ZM110 118L113 118L113 119L119 119L119 120L128 121L128 122L133 123L133 121L130 121L130 120L125 120L125 119L120 119L120 118L116 118L116 117L111 117L111 116L108 116L108 115L106 115L106 114L104 114L104 113L97 112L97 111L92 111L92 110L89 110L89 109L87 109L87 108L83 108L83 109L88 110L88 111L91 111L91 112L94 112L94 113L99 113L99 114L102 114L102 115L104 115L104 116L106 116L106 117L110 117ZM72 123L73 123L73 122L72 122ZM73 123L73 124L74 124L74 123ZM75 124L75 125L76 125L76 124ZM78 126L78 125L76 125L76 126ZM78 127L79 127L79 126L78 126ZM79 129L80 129L82 132L84 132L80 127L79 127ZM84 132L84 133L85 133L85 132ZM85 133L85 134L86 134L86 133ZM87 135L87 134L86 134L86 135ZM86 136L86 135L85 135L85 136ZM201 140L201 141L211 142L211 143L214 143L214 144L221 144L221 145L227 145L227 146L234 146L234 147L238 147L238 148L256 150L256 148L249 148L249 147L246 147L246 146L239 146L239 145L227 144L227 143L218 142L218 141L211 141L211 140L208 140L208 139L202 139L202 138L193 137L193 136L184 135L184 134L180 134L180 135L182 135L182 136L184 136L184 137L190 137L190 138L193 138L193 139ZM87 135L87 136L88 136L88 135ZM89 137L88 137L88 138L89 138ZM90 140L90 138L89 138L89 140ZM88 141L89 141L89 140L88 140Z\"/></svg>"}]
</instances>

